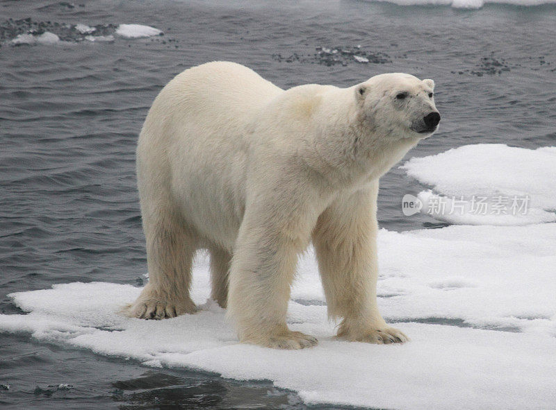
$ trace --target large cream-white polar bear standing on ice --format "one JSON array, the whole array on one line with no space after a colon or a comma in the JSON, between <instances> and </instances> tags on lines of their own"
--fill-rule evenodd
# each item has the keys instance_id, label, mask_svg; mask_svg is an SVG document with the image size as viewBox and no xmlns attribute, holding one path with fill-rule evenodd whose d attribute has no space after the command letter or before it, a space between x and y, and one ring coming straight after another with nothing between
<instances>
[{"instance_id":1,"label":"large cream-white polar bear standing on ice","mask_svg":"<svg viewBox=\"0 0 556 410\"><path fill-rule=\"evenodd\" d=\"M338 336L406 341L377 308L378 181L436 130L433 89L432 80L382 74L284 91L233 62L176 76L138 141L149 283L129 316L193 313L191 265L206 248L211 296L240 341L315 345L286 325L297 256L312 241Z\"/></svg>"}]
</instances>

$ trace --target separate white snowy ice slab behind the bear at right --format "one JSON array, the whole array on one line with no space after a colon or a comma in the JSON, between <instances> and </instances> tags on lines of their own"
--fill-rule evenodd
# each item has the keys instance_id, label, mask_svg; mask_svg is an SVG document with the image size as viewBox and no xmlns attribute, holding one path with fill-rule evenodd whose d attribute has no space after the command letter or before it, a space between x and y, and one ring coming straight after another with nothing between
<instances>
[{"instance_id":1,"label":"separate white snowy ice slab behind the bear at right","mask_svg":"<svg viewBox=\"0 0 556 410\"><path fill-rule=\"evenodd\" d=\"M401 168L432 187L418 194L423 203L420 212L439 221L469 225L556 221L555 146L531 150L505 144L466 145L411 158ZM479 206L481 198L484 207Z\"/></svg>"}]
</instances>

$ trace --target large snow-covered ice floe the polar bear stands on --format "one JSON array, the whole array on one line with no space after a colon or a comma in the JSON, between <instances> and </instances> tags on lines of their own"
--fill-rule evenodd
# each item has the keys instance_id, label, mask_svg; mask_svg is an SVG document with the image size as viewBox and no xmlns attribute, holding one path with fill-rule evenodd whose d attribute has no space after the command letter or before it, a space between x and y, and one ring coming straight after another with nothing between
<instances>
[{"instance_id":1,"label":"large snow-covered ice floe the polar bear stands on","mask_svg":"<svg viewBox=\"0 0 556 410\"><path fill-rule=\"evenodd\" d=\"M165 321L125 318L117 311L139 288L56 284L11 295L30 313L0 315L0 331L29 332L41 341L147 366L270 379L308 403L548 409L556 404L555 241L555 223L380 230L379 306L387 321L401 322L394 326L411 338L404 345L333 338L335 324L327 321L312 250L300 260L288 322L317 336L316 348L281 351L238 343L224 309L206 300L203 254L194 273L197 314Z\"/></svg>"}]
</instances>

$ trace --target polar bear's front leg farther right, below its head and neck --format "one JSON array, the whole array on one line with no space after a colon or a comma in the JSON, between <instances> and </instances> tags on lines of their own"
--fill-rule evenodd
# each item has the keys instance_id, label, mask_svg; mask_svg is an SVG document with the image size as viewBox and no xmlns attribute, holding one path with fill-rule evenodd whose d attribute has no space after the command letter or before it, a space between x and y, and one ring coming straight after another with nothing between
<instances>
[{"instance_id":1,"label":"polar bear's front leg farther right, below its head and neck","mask_svg":"<svg viewBox=\"0 0 556 410\"><path fill-rule=\"evenodd\" d=\"M318 268L331 318L342 318L338 336L369 343L404 343L377 306L378 181L336 199L313 232Z\"/></svg>"}]
</instances>

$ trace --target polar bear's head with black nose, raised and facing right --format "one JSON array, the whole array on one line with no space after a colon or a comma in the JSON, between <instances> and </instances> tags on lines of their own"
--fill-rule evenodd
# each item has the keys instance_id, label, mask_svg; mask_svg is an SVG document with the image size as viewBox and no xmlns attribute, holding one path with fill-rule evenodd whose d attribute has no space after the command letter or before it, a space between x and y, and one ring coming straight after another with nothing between
<instances>
[{"instance_id":1,"label":"polar bear's head with black nose, raised and facing right","mask_svg":"<svg viewBox=\"0 0 556 410\"><path fill-rule=\"evenodd\" d=\"M361 118L394 138L425 138L440 121L434 105L434 81L410 74L380 74L354 87Z\"/></svg>"}]
</instances>

